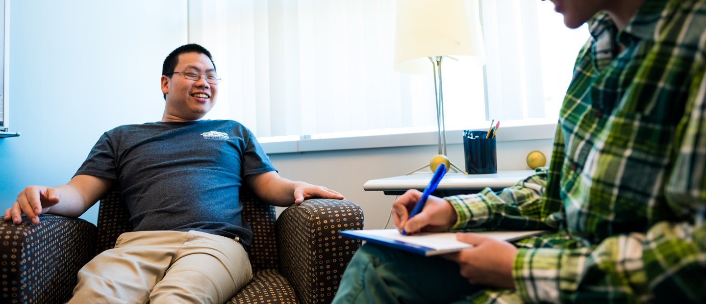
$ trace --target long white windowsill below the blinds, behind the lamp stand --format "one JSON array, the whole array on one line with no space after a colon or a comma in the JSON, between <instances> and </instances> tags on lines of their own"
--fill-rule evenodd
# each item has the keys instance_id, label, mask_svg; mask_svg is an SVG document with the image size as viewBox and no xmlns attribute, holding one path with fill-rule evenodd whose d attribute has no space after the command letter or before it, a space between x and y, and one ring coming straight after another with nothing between
<instances>
[{"instance_id":1,"label":"long white windowsill below the blinds, behind the lamp stand","mask_svg":"<svg viewBox=\"0 0 706 304\"><path fill-rule=\"evenodd\" d=\"M487 123L489 125L489 123ZM508 126L509 125L509 126ZM470 130L487 130L486 128L470 128ZM503 126L498 129L498 142L511 142L520 140L545 140L553 139L556 133L556 123L546 120L528 123L503 121ZM446 130L446 144L460 144L463 142L462 130ZM285 140L277 142L262 142L261 145L267 154L315 152L331 150L374 149L382 147L409 147L419 145L438 145L436 131L403 133L389 135L353 136L345 138L317 138L301 140Z\"/></svg>"}]
</instances>

